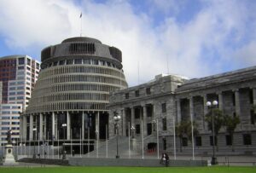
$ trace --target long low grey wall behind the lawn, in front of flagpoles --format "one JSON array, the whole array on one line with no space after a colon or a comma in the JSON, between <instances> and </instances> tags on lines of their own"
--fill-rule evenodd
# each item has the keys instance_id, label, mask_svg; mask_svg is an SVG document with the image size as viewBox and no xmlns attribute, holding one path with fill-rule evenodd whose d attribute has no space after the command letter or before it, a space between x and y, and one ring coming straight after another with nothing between
<instances>
[{"instance_id":1,"label":"long low grey wall behind the lawn, in front of flagpoles","mask_svg":"<svg viewBox=\"0 0 256 173\"><path fill-rule=\"evenodd\" d=\"M158 159L69 158L68 164L77 166L136 166L163 167ZM207 166L205 160L170 160L169 166Z\"/></svg>"}]
</instances>

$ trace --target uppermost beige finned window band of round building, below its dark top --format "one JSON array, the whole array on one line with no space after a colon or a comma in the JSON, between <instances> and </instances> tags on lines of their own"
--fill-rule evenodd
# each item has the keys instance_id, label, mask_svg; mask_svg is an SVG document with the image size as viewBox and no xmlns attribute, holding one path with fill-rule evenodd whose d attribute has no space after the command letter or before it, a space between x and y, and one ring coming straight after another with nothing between
<instances>
[{"instance_id":1,"label":"uppermost beige finned window band of round building, below its dark top","mask_svg":"<svg viewBox=\"0 0 256 173\"><path fill-rule=\"evenodd\" d=\"M65 73L97 73L115 76L118 78L125 78L123 72L116 71L110 68L103 68L98 66L61 66L53 68L44 72L43 77L52 75L65 74ZM41 74L40 74L41 75ZM42 77L41 77L42 78Z\"/></svg>"}]
</instances>

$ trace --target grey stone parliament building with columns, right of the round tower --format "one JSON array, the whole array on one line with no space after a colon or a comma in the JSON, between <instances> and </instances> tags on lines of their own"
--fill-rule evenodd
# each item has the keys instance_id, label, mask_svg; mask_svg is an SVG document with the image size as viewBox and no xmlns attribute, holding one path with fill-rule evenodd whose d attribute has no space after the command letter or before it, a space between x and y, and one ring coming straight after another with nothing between
<instances>
[{"instance_id":1,"label":"grey stone parliament building with columns, right of the round tower","mask_svg":"<svg viewBox=\"0 0 256 173\"><path fill-rule=\"evenodd\" d=\"M138 151L143 133L143 150L155 150L158 137L160 152L173 153L174 125L193 118L199 130L195 136L195 153L211 154L212 131L205 120L209 111L207 101L218 101L218 109L224 115L238 115L241 119L234 135L235 152L231 151L230 136L222 128L217 136L218 154L256 154L256 118L252 108L256 105L256 66L190 80L177 75L158 75L146 84L114 91L109 109L110 114L121 115L119 134L128 136L128 130L134 128ZM183 153L192 153L190 141L180 142L176 138L177 153L180 145Z\"/></svg>"}]
</instances>

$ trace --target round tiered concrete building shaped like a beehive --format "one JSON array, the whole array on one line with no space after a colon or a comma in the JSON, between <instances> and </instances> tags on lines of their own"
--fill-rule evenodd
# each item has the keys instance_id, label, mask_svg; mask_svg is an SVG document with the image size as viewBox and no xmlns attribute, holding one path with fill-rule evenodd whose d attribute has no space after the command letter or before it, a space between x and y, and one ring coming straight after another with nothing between
<instances>
[{"instance_id":1,"label":"round tiered concrete building shaped like a beehive","mask_svg":"<svg viewBox=\"0 0 256 173\"><path fill-rule=\"evenodd\" d=\"M72 37L43 49L41 61L21 116L21 141L56 146L58 140L75 147L81 139L106 139L109 92L127 88L122 52L95 38Z\"/></svg>"}]
</instances>

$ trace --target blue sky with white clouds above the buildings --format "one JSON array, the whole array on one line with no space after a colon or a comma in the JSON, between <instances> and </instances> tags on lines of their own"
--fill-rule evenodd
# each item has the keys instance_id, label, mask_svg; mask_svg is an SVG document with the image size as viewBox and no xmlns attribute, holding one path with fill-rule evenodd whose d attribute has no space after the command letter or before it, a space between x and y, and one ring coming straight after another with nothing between
<instances>
[{"instance_id":1,"label":"blue sky with white clouds above the buildings","mask_svg":"<svg viewBox=\"0 0 256 173\"><path fill-rule=\"evenodd\" d=\"M80 35L123 52L130 86L160 73L200 78L256 65L254 0L0 0L0 56Z\"/></svg>"}]
</instances>

